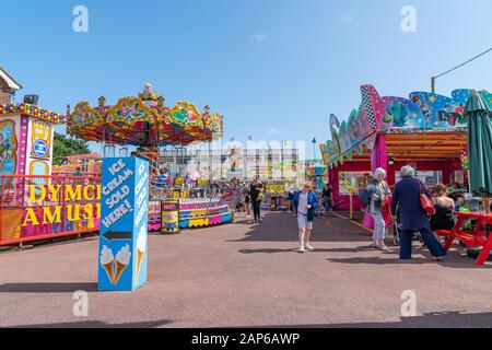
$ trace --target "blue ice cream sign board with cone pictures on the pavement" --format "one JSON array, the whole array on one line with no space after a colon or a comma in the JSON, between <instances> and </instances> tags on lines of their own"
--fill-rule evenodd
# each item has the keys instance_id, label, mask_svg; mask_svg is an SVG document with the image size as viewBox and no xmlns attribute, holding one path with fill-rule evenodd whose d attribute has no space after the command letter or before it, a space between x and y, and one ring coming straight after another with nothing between
<instances>
[{"instance_id":1,"label":"blue ice cream sign board with cone pictures on the pavement","mask_svg":"<svg viewBox=\"0 0 492 350\"><path fill-rule=\"evenodd\" d=\"M149 163L104 159L98 289L133 291L147 282Z\"/></svg>"}]
</instances>

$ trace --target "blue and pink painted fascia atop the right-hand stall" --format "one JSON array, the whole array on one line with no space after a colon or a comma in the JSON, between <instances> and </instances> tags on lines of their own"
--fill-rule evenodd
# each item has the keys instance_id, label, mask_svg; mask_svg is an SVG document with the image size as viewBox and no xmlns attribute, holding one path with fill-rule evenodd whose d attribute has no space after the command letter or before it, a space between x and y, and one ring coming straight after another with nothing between
<instances>
[{"instance_id":1,"label":"blue and pink painted fascia atop the right-hand stall","mask_svg":"<svg viewBox=\"0 0 492 350\"><path fill-rule=\"evenodd\" d=\"M492 94L479 94L492 109ZM354 152L362 154L364 145L372 150L378 132L462 130L468 122L464 109L470 95L470 89L458 89L450 97L430 92L412 92L409 98L382 97L373 85L363 85L359 110L353 110L347 121L340 124L330 115L331 140L320 145L323 158L330 166L343 164Z\"/></svg>"}]
</instances>

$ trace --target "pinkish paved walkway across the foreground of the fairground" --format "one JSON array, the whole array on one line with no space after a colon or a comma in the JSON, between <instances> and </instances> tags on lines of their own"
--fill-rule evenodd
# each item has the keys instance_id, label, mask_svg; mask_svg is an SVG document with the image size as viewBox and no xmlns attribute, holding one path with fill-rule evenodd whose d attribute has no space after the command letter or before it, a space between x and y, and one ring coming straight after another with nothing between
<instances>
[{"instance_id":1,"label":"pinkish paved walkway across the foreground of the fairground","mask_svg":"<svg viewBox=\"0 0 492 350\"><path fill-rule=\"evenodd\" d=\"M367 248L370 234L347 220L315 223L315 252L296 252L295 220L184 231L149 240L149 282L133 293L97 292L97 237L0 254L0 326L43 327L406 327L492 326L491 265L456 247L434 262L415 247ZM89 317L72 314L89 292ZM401 317L401 293L417 317Z\"/></svg>"}]
</instances>

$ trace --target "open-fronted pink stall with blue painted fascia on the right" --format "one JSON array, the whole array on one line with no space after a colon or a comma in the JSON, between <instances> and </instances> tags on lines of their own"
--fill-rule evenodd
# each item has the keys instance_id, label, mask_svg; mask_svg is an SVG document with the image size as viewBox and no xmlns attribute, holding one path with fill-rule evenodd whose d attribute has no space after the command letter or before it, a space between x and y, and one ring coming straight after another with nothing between
<instances>
[{"instance_id":1,"label":"open-fronted pink stall with blue painted fascia on the right","mask_svg":"<svg viewBox=\"0 0 492 350\"><path fill-rule=\"evenodd\" d=\"M330 115L331 140L320 144L330 168L335 209L349 210L351 197L354 209L361 209L363 203L354 195L366 187L377 167L387 171L390 187L398 182L401 166L411 164L429 186L466 188L464 108L470 94L471 90L460 89L449 97L429 92L382 97L374 86L361 86L359 108L341 124ZM492 106L492 94L480 94Z\"/></svg>"}]
</instances>

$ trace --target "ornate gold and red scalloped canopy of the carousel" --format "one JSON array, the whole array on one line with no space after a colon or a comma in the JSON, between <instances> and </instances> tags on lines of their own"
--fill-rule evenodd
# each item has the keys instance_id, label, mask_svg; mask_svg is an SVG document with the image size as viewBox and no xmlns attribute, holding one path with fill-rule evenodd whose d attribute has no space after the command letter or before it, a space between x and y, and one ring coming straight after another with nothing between
<instances>
[{"instance_id":1,"label":"ornate gold and red scalloped canopy of the carousel","mask_svg":"<svg viewBox=\"0 0 492 350\"><path fill-rule=\"evenodd\" d=\"M210 114L209 106L200 113L189 102L180 101L174 107L164 103L150 84L138 97L120 98L114 106L107 106L104 97L97 107L81 102L73 113L68 110L67 131L87 141L138 147L187 145L222 137L223 117Z\"/></svg>"}]
</instances>

